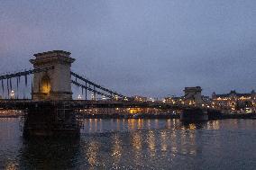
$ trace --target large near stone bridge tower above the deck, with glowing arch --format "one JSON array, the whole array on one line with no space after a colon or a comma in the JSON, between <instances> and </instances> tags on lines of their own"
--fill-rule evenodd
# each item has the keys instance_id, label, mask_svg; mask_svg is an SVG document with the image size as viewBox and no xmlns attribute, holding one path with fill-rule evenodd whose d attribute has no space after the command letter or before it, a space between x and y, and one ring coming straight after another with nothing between
<instances>
[{"instance_id":1,"label":"large near stone bridge tower above the deck, with glowing arch","mask_svg":"<svg viewBox=\"0 0 256 170\"><path fill-rule=\"evenodd\" d=\"M70 67L75 61L70 58L70 52L52 50L34 54L31 59L33 67L54 67L45 72L35 73L33 76L32 100L59 101L72 99Z\"/></svg>"}]
</instances>

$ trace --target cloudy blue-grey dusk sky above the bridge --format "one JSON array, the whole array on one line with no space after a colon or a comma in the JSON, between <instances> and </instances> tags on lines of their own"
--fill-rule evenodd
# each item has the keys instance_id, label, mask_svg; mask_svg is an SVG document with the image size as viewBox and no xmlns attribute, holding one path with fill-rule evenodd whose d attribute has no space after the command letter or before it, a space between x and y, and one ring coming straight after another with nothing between
<instances>
[{"instance_id":1,"label":"cloudy blue-grey dusk sky above the bridge","mask_svg":"<svg viewBox=\"0 0 256 170\"><path fill-rule=\"evenodd\" d=\"M0 73L67 50L75 72L127 95L256 90L255 0L0 0Z\"/></svg>"}]
</instances>

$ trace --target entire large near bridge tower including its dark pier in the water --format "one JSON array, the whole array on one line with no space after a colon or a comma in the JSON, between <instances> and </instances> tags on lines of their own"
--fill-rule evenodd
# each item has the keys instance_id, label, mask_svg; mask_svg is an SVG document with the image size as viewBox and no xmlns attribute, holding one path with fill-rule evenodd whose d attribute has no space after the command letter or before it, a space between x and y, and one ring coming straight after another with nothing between
<instances>
[{"instance_id":1,"label":"entire large near bridge tower including its dark pier in the water","mask_svg":"<svg viewBox=\"0 0 256 170\"><path fill-rule=\"evenodd\" d=\"M35 72L32 86L32 104L25 118L23 135L74 136L79 135L76 115L70 108L72 99L70 67L75 61L70 52L53 50L34 54L34 69L52 67Z\"/></svg>"}]
</instances>

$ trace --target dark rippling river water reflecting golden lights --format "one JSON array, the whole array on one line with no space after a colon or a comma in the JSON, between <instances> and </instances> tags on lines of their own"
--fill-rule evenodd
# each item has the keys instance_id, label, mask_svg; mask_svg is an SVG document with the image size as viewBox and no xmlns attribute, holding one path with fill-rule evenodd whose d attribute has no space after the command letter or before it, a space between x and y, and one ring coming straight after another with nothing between
<instances>
[{"instance_id":1,"label":"dark rippling river water reflecting golden lights","mask_svg":"<svg viewBox=\"0 0 256 170\"><path fill-rule=\"evenodd\" d=\"M256 121L83 120L80 139L22 137L0 118L0 169L256 169Z\"/></svg>"}]
</instances>

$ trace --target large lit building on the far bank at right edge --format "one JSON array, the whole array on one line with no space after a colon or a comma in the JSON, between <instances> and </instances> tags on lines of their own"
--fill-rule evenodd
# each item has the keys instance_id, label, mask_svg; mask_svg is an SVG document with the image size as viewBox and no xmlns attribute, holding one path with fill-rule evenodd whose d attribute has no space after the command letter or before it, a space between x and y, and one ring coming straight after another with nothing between
<instances>
[{"instance_id":1,"label":"large lit building on the far bank at right edge","mask_svg":"<svg viewBox=\"0 0 256 170\"><path fill-rule=\"evenodd\" d=\"M229 94L212 94L212 105L216 108L232 111L255 112L256 93L254 90L249 94L239 94L232 90Z\"/></svg>"}]
</instances>

